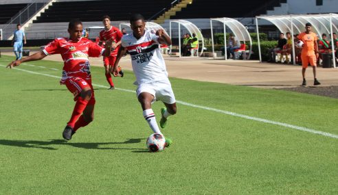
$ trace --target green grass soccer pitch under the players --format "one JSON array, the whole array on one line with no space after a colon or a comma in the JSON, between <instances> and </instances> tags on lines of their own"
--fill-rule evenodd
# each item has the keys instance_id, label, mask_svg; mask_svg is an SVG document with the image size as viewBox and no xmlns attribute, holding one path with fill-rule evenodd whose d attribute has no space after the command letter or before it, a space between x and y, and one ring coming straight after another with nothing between
<instances>
[{"instance_id":1,"label":"green grass soccer pitch under the players","mask_svg":"<svg viewBox=\"0 0 338 195\"><path fill-rule=\"evenodd\" d=\"M338 99L170 79L173 144L149 153L133 73L106 90L91 67L95 119L67 142L63 63L5 69L12 58L0 58L0 194L338 194Z\"/></svg>"}]
</instances>

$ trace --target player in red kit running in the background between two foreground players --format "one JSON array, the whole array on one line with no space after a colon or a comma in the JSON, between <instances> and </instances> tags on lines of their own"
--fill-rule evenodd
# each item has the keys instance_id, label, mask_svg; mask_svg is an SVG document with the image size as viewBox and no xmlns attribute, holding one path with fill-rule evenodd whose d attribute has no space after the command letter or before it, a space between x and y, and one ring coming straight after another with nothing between
<instances>
[{"instance_id":1,"label":"player in red kit running in the background between two foreground players","mask_svg":"<svg viewBox=\"0 0 338 195\"><path fill-rule=\"evenodd\" d=\"M121 33L120 29L117 27L113 27L111 25L111 18L109 16L102 17L102 23L104 25L104 29L100 31L100 42L99 45L102 45L103 42L107 40L112 41L111 45L111 55L109 57L103 57L104 63L104 70L106 74L106 81L108 81L109 85L111 86L109 89L115 89L113 80L111 79L111 73L109 72L110 68L114 66L117 52L120 49L121 39L123 34ZM120 75L123 77L123 72L120 70Z\"/></svg>"}]
</instances>

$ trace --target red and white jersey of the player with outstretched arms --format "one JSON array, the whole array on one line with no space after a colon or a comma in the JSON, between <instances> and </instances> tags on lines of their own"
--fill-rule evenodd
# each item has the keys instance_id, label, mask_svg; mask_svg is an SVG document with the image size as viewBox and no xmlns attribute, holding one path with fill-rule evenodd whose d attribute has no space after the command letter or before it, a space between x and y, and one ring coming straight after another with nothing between
<instances>
[{"instance_id":1,"label":"red and white jersey of the player with outstretched arms","mask_svg":"<svg viewBox=\"0 0 338 195\"><path fill-rule=\"evenodd\" d=\"M63 77L60 83L71 77L80 77L91 81L90 64L88 57L100 57L104 49L87 38L80 38L73 42L69 38L57 38L49 42L43 53L52 55L60 53L63 57Z\"/></svg>"}]
</instances>

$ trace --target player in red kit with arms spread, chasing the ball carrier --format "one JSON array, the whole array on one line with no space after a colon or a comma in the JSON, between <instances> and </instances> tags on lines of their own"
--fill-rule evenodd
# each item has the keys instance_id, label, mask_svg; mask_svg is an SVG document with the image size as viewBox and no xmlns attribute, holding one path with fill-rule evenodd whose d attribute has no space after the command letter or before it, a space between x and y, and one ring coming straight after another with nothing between
<instances>
[{"instance_id":1,"label":"player in red kit with arms spread, chasing the ball carrier","mask_svg":"<svg viewBox=\"0 0 338 195\"><path fill-rule=\"evenodd\" d=\"M42 60L47 55L57 53L63 57L63 77L60 83L67 86L68 90L74 94L74 101L76 101L73 114L63 131L63 138L71 140L71 136L76 130L93 121L95 96L93 86L91 86L88 57L100 57L102 54L109 56L111 41L108 41L103 49L91 40L82 38L82 22L78 19L69 22L68 32L69 38L57 38L53 42L49 42L43 51L13 61L7 67L12 68L23 62Z\"/></svg>"}]
</instances>

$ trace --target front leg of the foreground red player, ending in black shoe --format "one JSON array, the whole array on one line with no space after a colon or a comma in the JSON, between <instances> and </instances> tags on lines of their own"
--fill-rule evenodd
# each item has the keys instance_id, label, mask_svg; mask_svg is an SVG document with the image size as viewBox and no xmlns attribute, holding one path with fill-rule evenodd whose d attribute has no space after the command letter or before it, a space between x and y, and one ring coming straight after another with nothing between
<instances>
[{"instance_id":1,"label":"front leg of the foreground red player, ending in black shoe","mask_svg":"<svg viewBox=\"0 0 338 195\"><path fill-rule=\"evenodd\" d=\"M71 140L71 135L74 134L75 123L82 115L82 112L84 112L84 109L86 109L93 92L89 83L80 78L68 79L65 84L68 90L74 94L74 100L76 100L71 118L67 122L65 131L63 131L63 138Z\"/></svg>"}]
</instances>

